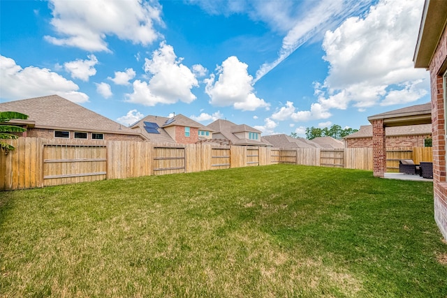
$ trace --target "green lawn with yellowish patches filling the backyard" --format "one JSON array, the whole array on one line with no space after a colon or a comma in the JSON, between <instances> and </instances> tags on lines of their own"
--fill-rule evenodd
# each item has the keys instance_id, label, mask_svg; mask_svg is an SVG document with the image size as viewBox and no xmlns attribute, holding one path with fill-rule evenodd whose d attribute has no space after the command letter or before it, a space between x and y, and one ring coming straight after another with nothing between
<instances>
[{"instance_id":1,"label":"green lawn with yellowish patches filling the backyard","mask_svg":"<svg viewBox=\"0 0 447 298\"><path fill-rule=\"evenodd\" d=\"M269 165L0 193L2 297L446 297L432 184Z\"/></svg>"}]
</instances>

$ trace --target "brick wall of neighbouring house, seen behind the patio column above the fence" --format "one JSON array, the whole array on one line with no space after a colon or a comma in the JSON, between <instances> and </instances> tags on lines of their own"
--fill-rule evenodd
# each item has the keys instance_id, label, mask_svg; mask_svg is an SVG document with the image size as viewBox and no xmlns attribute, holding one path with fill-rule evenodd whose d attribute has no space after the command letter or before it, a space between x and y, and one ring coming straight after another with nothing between
<instances>
[{"instance_id":1,"label":"brick wall of neighbouring house, seen behind the patio column above the fence","mask_svg":"<svg viewBox=\"0 0 447 298\"><path fill-rule=\"evenodd\" d=\"M398 137L386 136L386 148L397 147L424 147L424 139L427 135L402 135ZM348 148L372 148L372 137L358 139L346 139Z\"/></svg>"}]
</instances>

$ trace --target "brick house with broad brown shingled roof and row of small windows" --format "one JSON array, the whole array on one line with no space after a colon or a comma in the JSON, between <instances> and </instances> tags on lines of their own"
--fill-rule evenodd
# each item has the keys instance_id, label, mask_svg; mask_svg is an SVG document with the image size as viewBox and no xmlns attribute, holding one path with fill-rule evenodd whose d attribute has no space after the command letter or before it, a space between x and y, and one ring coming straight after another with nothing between
<instances>
[{"instance_id":1,"label":"brick house with broad brown shingled roof and row of small windows","mask_svg":"<svg viewBox=\"0 0 447 298\"><path fill-rule=\"evenodd\" d=\"M0 111L29 116L27 120L11 119L8 122L27 128L24 137L145 141L139 132L57 95L0 103Z\"/></svg>"}]
</instances>

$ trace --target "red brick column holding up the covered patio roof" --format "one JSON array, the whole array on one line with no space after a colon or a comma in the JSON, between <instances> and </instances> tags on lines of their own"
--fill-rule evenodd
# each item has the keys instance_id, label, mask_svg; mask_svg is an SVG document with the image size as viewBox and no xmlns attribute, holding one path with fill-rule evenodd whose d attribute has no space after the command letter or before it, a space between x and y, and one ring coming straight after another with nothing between
<instances>
[{"instance_id":1,"label":"red brick column holding up the covered patio roof","mask_svg":"<svg viewBox=\"0 0 447 298\"><path fill-rule=\"evenodd\" d=\"M374 177L384 177L386 172L385 126L383 119L372 121L372 156Z\"/></svg>"}]
</instances>

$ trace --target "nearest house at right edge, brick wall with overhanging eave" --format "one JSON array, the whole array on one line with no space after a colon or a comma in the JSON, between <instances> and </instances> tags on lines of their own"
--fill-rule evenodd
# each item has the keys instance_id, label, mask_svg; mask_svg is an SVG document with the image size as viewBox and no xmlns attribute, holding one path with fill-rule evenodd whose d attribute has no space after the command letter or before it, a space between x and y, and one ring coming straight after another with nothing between
<instances>
[{"instance_id":1,"label":"nearest house at right edge, brick wall with overhanging eave","mask_svg":"<svg viewBox=\"0 0 447 298\"><path fill-rule=\"evenodd\" d=\"M432 91L434 219L447 239L447 1L425 0L414 53L416 68L430 70Z\"/></svg>"}]
</instances>

